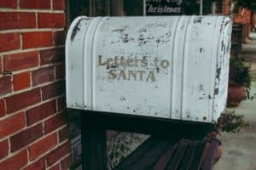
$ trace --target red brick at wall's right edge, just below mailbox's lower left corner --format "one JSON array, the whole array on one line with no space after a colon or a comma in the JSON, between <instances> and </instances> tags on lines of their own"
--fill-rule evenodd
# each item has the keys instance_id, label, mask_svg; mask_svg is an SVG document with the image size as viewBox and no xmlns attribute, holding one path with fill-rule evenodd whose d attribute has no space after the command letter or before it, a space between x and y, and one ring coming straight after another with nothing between
<instances>
[{"instance_id":1,"label":"red brick at wall's right edge, just below mailbox's lower left corner","mask_svg":"<svg viewBox=\"0 0 256 170\"><path fill-rule=\"evenodd\" d=\"M67 112L61 112L44 122L44 133L50 133L67 123Z\"/></svg>"}]
</instances>

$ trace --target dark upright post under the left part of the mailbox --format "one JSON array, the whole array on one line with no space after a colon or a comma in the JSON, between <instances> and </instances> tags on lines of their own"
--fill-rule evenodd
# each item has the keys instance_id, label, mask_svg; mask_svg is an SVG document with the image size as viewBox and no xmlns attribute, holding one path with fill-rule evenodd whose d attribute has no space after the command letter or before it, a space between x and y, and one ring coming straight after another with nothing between
<instances>
[{"instance_id":1,"label":"dark upright post under the left part of the mailbox","mask_svg":"<svg viewBox=\"0 0 256 170\"><path fill-rule=\"evenodd\" d=\"M92 123L87 114L81 114L83 170L107 169L106 129Z\"/></svg>"}]
</instances>

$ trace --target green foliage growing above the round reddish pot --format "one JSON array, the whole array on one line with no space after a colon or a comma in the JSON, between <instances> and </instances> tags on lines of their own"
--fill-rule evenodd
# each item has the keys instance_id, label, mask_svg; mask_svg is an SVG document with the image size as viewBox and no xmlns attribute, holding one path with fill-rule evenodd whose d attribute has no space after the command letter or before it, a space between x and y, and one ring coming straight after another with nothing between
<instances>
[{"instance_id":1,"label":"green foliage growing above the round reddish pot","mask_svg":"<svg viewBox=\"0 0 256 170\"><path fill-rule=\"evenodd\" d=\"M253 78L250 73L250 68L251 66L247 65L241 59L230 59L230 82L235 82L245 86L247 91L247 99L253 99L253 96L250 94Z\"/></svg>"}]
</instances>

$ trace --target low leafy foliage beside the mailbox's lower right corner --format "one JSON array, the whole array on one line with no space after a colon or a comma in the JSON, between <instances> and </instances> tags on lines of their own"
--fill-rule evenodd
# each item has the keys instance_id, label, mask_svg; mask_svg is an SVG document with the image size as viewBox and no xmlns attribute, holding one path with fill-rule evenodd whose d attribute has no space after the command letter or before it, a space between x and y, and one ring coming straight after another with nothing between
<instances>
[{"instance_id":1,"label":"low leafy foliage beside the mailbox's lower right corner","mask_svg":"<svg viewBox=\"0 0 256 170\"><path fill-rule=\"evenodd\" d=\"M236 115L235 111L224 111L218 118L217 129L226 133L238 133L241 128L248 126L244 121L244 116Z\"/></svg>"}]
</instances>

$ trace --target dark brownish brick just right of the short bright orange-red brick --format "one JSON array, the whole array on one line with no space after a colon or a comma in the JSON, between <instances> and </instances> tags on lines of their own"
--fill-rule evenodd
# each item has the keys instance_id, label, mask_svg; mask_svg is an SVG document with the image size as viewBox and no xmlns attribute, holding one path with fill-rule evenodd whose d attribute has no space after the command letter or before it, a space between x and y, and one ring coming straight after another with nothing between
<instances>
[{"instance_id":1,"label":"dark brownish brick just right of the short bright orange-red brick","mask_svg":"<svg viewBox=\"0 0 256 170\"><path fill-rule=\"evenodd\" d=\"M32 85L36 86L44 82L53 82L55 79L54 67L41 68L32 71Z\"/></svg>"}]
</instances>

